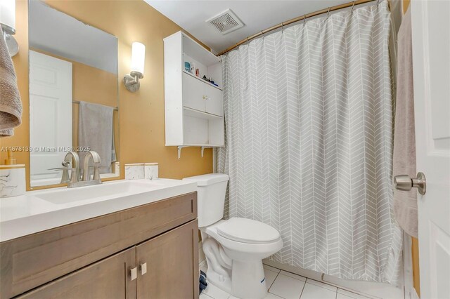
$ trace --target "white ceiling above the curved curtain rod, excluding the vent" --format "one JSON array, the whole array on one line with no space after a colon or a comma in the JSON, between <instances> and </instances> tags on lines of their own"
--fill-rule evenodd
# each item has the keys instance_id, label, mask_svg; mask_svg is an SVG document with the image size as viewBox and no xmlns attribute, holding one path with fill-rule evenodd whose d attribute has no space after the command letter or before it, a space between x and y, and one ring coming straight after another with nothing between
<instances>
[{"instance_id":1,"label":"white ceiling above the curved curtain rod, excluding the vent","mask_svg":"<svg viewBox=\"0 0 450 299\"><path fill-rule=\"evenodd\" d=\"M299 15L344 4L349 0L144 0L170 20L219 53L247 36ZM205 22L227 8L236 13L244 27L222 35Z\"/></svg>"}]
</instances>

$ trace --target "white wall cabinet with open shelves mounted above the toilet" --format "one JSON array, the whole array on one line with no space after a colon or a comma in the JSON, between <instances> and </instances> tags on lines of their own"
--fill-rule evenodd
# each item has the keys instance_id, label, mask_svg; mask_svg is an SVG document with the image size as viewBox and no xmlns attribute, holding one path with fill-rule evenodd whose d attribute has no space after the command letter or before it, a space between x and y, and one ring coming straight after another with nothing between
<instances>
[{"instance_id":1,"label":"white wall cabinet with open shelves mounted above the toilet","mask_svg":"<svg viewBox=\"0 0 450 299\"><path fill-rule=\"evenodd\" d=\"M184 68L195 64L200 76ZM166 146L224 146L221 60L183 32L164 39ZM212 78L218 86L205 81ZM202 151L203 152L203 151Z\"/></svg>"}]
</instances>

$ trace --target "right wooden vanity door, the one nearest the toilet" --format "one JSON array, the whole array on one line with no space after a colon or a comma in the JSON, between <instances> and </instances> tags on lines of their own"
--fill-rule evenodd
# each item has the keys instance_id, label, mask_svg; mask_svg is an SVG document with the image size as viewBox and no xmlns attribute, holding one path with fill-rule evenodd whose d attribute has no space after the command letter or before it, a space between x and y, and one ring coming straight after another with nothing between
<instances>
[{"instance_id":1,"label":"right wooden vanity door, the one nearest the toilet","mask_svg":"<svg viewBox=\"0 0 450 299\"><path fill-rule=\"evenodd\" d=\"M136 246L136 261L137 298L198 298L197 220Z\"/></svg>"}]
</instances>

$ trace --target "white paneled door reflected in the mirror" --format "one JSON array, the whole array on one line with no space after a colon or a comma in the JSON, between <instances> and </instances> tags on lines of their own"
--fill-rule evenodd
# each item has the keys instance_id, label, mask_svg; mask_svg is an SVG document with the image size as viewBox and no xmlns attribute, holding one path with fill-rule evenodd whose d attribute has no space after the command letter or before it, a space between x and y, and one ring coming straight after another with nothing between
<instances>
[{"instance_id":1,"label":"white paneled door reflected in the mirror","mask_svg":"<svg viewBox=\"0 0 450 299\"><path fill-rule=\"evenodd\" d=\"M58 183L72 147L72 63L30 51L31 185Z\"/></svg>"}]
</instances>

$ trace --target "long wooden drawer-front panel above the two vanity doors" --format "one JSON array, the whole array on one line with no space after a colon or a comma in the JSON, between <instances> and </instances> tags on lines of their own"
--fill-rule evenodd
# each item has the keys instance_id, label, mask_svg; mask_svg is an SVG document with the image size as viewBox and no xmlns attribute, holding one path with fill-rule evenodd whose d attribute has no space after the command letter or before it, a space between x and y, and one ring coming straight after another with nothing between
<instances>
[{"instance_id":1,"label":"long wooden drawer-front panel above the two vanity doors","mask_svg":"<svg viewBox=\"0 0 450 299\"><path fill-rule=\"evenodd\" d=\"M197 192L0 244L0 297L11 298L197 218Z\"/></svg>"}]
</instances>

